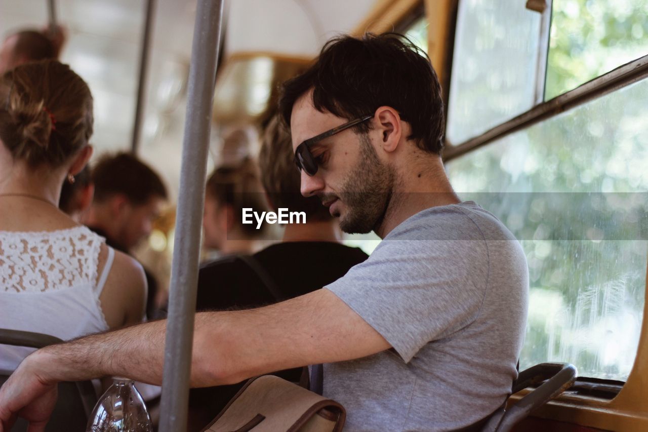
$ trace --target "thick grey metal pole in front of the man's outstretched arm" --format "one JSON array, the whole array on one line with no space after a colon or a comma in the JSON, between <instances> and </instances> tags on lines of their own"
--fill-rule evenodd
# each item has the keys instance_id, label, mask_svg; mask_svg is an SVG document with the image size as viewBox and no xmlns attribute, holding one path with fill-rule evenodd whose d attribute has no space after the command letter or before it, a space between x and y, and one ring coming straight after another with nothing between
<instances>
[{"instance_id":1,"label":"thick grey metal pole in front of the man's outstretched arm","mask_svg":"<svg viewBox=\"0 0 648 432\"><path fill-rule=\"evenodd\" d=\"M224 0L199 0L196 10L171 270L160 432L179 432L187 427L200 228L223 3Z\"/></svg>"}]
</instances>

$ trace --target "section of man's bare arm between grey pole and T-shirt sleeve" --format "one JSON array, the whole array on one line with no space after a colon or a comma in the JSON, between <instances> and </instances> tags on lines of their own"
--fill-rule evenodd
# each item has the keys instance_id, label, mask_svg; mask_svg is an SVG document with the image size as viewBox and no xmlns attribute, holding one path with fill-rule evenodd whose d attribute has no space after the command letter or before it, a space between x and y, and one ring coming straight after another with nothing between
<instances>
[{"instance_id":1,"label":"section of man's bare arm between grey pole and T-shirt sleeve","mask_svg":"<svg viewBox=\"0 0 648 432\"><path fill-rule=\"evenodd\" d=\"M242 379L303 365L365 357L391 348L357 313L327 289L249 311L196 319L194 385ZM197 371L196 371L197 372ZM201 382L203 377L207 381ZM193 381L196 379L196 381Z\"/></svg>"}]
</instances>

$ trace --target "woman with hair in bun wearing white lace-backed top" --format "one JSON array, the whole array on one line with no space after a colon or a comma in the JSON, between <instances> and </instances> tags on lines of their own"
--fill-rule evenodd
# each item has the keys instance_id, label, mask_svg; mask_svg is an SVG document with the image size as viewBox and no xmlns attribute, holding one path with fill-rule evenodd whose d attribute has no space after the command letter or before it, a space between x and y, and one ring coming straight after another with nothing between
<instances>
[{"instance_id":1,"label":"woman with hair in bun wearing white lace-backed top","mask_svg":"<svg viewBox=\"0 0 648 432\"><path fill-rule=\"evenodd\" d=\"M58 209L89 160L92 96L46 60L0 77L0 328L73 339L141 322L141 266ZM33 351L0 346L0 369Z\"/></svg>"}]
</instances>

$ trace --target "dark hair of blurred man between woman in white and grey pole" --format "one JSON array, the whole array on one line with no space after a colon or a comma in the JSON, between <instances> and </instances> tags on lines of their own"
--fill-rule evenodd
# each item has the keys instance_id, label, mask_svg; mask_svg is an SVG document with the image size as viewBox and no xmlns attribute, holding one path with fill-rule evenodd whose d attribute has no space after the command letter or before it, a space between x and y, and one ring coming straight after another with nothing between
<instances>
[{"instance_id":1,"label":"dark hair of blurred man between woman in white and grey pole","mask_svg":"<svg viewBox=\"0 0 648 432\"><path fill-rule=\"evenodd\" d=\"M103 202L121 193L135 206L151 198L167 198L162 179L132 154L118 153L100 158L92 170L96 202Z\"/></svg>"}]
</instances>

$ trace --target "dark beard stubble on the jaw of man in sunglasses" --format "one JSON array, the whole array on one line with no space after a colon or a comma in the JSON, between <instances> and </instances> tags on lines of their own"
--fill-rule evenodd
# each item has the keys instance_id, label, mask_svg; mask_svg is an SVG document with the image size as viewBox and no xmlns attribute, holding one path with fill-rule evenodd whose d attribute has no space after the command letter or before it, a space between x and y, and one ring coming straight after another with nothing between
<instances>
[{"instance_id":1,"label":"dark beard stubble on the jaw of man in sunglasses","mask_svg":"<svg viewBox=\"0 0 648 432\"><path fill-rule=\"evenodd\" d=\"M341 230L349 234L376 230L385 217L394 183L393 169L380 162L369 137L361 134L360 158L339 194L347 207L347 214L340 217Z\"/></svg>"}]
</instances>

